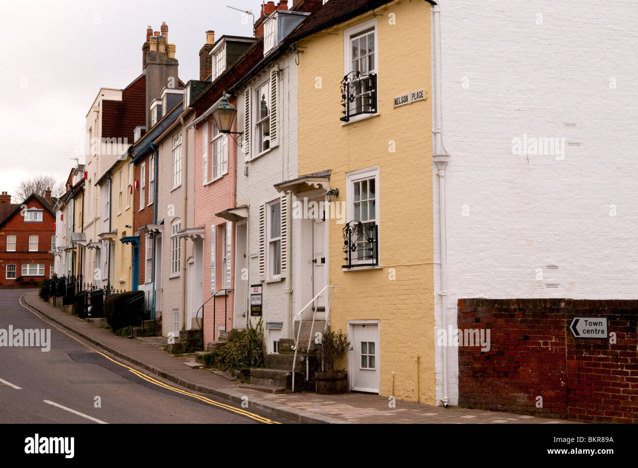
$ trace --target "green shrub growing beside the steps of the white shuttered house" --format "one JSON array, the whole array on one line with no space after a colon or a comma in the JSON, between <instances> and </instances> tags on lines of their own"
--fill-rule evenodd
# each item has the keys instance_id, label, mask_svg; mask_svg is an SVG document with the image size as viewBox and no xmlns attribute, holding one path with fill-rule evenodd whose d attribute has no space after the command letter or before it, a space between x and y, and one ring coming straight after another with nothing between
<instances>
[{"instance_id":1,"label":"green shrub growing beside the steps of the white shuttered house","mask_svg":"<svg viewBox=\"0 0 638 468\"><path fill-rule=\"evenodd\" d=\"M216 364L225 372L237 369L263 367L265 355L262 320L255 327L248 322L248 329L232 334L232 338L219 350Z\"/></svg>"}]
</instances>

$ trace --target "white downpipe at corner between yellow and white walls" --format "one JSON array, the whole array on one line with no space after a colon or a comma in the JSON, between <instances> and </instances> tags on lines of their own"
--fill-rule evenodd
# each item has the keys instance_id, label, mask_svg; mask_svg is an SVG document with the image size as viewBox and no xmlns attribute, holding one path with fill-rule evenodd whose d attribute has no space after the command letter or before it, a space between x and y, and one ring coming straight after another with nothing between
<instances>
[{"instance_id":1,"label":"white downpipe at corner between yellow and white walls","mask_svg":"<svg viewBox=\"0 0 638 468\"><path fill-rule=\"evenodd\" d=\"M447 238L445 230L445 166L450 159L443 147L443 133L441 127L443 125L443 106L441 105L441 10L438 5L434 5L433 26L434 40L432 52L434 56L434 155L433 161L436 163L439 176L439 227L440 227L440 257L441 257L441 328L447 329ZM447 343L441 350L442 354L442 373L443 373L443 396L441 402L446 408L449 406L449 396L447 388Z\"/></svg>"}]
</instances>

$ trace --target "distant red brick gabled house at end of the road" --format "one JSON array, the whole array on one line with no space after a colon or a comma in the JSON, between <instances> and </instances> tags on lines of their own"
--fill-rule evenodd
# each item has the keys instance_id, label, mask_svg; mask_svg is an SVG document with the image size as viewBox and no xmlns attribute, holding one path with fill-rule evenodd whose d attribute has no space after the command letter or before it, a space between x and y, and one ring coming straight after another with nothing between
<instances>
[{"instance_id":1,"label":"distant red brick gabled house at end of the road","mask_svg":"<svg viewBox=\"0 0 638 468\"><path fill-rule=\"evenodd\" d=\"M56 215L47 195L22 203L0 195L0 289L33 288L52 275Z\"/></svg>"}]
</instances>

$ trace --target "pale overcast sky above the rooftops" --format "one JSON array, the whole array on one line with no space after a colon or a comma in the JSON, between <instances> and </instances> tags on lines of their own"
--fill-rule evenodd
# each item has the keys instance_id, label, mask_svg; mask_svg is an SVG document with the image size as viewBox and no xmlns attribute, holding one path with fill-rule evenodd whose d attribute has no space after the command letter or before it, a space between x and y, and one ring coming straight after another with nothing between
<instances>
[{"instance_id":1,"label":"pale overcast sky above the rooftops","mask_svg":"<svg viewBox=\"0 0 638 468\"><path fill-rule=\"evenodd\" d=\"M259 0L0 0L0 191L39 174L63 181L84 137L86 114L100 87L121 89L142 73L146 27L168 24L179 77L199 78L198 52L212 29L252 36ZM80 162L83 162L80 160ZM12 200L14 203L21 200Z\"/></svg>"}]
</instances>

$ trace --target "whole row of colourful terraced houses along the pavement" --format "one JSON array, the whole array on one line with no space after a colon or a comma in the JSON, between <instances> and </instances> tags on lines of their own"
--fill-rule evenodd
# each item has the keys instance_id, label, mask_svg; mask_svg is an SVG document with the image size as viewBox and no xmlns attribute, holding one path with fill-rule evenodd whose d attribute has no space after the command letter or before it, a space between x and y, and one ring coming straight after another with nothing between
<instances>
[{"instance_id":1,"label":"whole row of colourful terraced houses along the pavement","mask_svg":"<svg viewBox=\"0 0 638 468\"><path fill-rule=\"evenodd\" d=\"M341 329L351 391L635 418L631 9L269 1L253 36L206 31L188 80L148 27L87 112L56 273L145 291L163 336L262 320L277 354Z\"/></svg>"}]
</instances>

